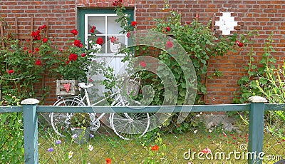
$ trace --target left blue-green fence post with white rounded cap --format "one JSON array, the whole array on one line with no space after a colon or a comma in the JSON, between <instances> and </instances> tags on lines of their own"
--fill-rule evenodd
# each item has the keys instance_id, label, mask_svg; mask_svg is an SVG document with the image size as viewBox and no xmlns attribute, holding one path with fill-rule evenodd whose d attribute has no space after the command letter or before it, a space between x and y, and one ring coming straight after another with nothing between
<instances>
[{"instance_id":1,"label":"left blue-green fence post with white rounded cap","mask_svg":"<svg viewBox=\"0 0 285 164\"><path fill-rule=\"evenodd\" d=\"M38 163L38 100L28 98L21 102L24 114L24 156L25 164Z\"/></svg>"}]
</instances>

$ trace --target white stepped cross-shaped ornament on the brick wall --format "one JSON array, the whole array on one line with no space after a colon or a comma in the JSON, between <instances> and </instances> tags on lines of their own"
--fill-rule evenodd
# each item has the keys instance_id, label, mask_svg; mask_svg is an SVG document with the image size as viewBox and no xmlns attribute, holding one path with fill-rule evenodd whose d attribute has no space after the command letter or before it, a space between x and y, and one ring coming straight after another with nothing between
<instances>
[{"instance_id":1,"label":"white stepped cross-shaped ornament on the brick wall","mask_svg":"<svg viewBox=\"0 0 285 164\"><path fill-rule=\"evenodd\" d=\"M234 21L231 12L222 12L222 16L219 16L219 21L215 21L215 26L219 26L222 35L229 35L231 31L234 31L234 26L237 26L237 21Z\"/></svg>"}]
</instances>

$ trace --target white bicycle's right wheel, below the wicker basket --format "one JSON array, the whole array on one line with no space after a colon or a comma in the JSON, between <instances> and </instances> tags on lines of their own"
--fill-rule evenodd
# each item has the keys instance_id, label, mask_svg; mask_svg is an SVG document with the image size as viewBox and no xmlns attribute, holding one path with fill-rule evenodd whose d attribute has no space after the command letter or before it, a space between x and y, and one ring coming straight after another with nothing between
<instances>
[{"instance_id":1,"label":"white bicycle's right wheel, below the wicker basket","mask_svg":"<svg viewBox=\"0 0 285 164\"><path fill-rule=\"evenodd\" d=\"M119 102L115 106L125 106ZM115 134L124 140L140 138L150 127L149 113L111 113L110 125Z\"/></svg>"}]
</instances>

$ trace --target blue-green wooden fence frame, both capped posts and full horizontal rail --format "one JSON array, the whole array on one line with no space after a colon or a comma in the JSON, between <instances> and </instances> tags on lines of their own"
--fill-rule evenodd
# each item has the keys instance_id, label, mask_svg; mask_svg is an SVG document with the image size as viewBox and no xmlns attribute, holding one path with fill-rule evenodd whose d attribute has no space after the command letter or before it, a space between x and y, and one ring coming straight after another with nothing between
<instances>
[{"instance_id":1,"label":"blue-green wooden fence frame, both capped posts and full horizontal rail","mask_svg":"<svg viewBox=\"0 0 285 164\"><path fill-rule=\"evenodd\" d=\"M146 106L141 109L129 107L62 107L62 106L37 106L38 100L27 99L21 102L23 106L1 107L0 113L24 113L24 155L26 164L38 163L38 114L51 113L172 113L172 112L226 112L249 111L249 142L248 152L257 155L262 153L264 140L264 111L282 111L285 104L265 104L266 99L259 96L249 98L249 104L222 104L222 105L193 105L193 106ZM257 159L248 158L248 163L262 163Z\"/></svg>"}]
</instances>

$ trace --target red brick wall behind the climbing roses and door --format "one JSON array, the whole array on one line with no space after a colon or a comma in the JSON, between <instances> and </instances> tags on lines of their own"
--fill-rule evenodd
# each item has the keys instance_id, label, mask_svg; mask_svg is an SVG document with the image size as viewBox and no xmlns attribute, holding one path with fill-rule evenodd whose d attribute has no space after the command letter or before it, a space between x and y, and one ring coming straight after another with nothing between
<instances>
[{"instance_id":1,"label":"red brick wall behind the climbing roses and door","mask_svg":"<svg viewBox=\"0 0 285 164\"><path fill-rule=\"evenodd\" d=\"M15 16L19 17L19 29L21 34L29 33L30 16L34 18L34 29L49 21L49 36L58 38L57 43L63 46L65 41L71 39L69 31L77 27L78 8L113 8L111 0L51 0L51 1L11 1L0 0L0 16L14 26ZM168 0L170 8L175 8L182 14L182 23L195 19L199 14L199 21L206 23L214 14L215 20L219 20L222 12L232 12L234 21L238 21L238 34L257 29L259 36L254 39L256 59L261 58L265 40L271 32L274 33L275 58L281 63L285 52L285 3L284 0ZM154 26L154 18L160 18L165 14L162 11L162 0L126 0L126 6L134 7L135 20L138 21L138 29L150 29ZM216 34L221 34L215 27ZM234 91L239 90L237 81L244 76L244 66L249 58L249 48L239 50L237 53L229 53L222 57L211 58L209 61L209 73L218 68L224 74L223 77L214 78L207 82L208 94L206 103L232 103ZM45 85L53 86L54 79L46 78ZM54 87L54 86L53 86ZM55 98L52 91L46 103L51 103Z\"/></svg>"}]
</instances>

